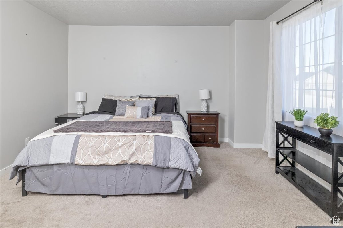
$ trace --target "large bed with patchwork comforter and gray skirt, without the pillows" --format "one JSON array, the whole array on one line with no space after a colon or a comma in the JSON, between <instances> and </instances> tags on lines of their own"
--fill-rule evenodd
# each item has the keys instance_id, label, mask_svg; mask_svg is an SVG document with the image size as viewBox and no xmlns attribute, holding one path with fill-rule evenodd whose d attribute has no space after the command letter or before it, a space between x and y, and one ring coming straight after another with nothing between
<instances>
[{"instance_id":1,"label":"large bed with patchwork comforter and gray skirt, without the pillows","mask_svg":"<svg viewBox=\"0 0 343 228\"><path fill-rule=\"evenodd\" d=\"M141 126L138 132L126 129L131 121ZM160 123L170 125L171 133L163 133ZM105 125L122 130L99 131ZM10 179L22 181L22 196L30 191L106 197L183 189L188 198L192 178L201 174L199 162L179 113L127 119L91 112L33 138L15 159Z\"/></svg>"}]
</instances>

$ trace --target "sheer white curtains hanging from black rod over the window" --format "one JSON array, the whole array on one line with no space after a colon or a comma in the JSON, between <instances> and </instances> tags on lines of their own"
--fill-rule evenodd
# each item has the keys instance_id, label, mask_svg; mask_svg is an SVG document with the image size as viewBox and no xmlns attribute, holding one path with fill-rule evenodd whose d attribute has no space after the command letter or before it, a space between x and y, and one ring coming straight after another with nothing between
<instances>
[{"instance_id":1,"label":"sheer white curtains hanging from black rod over the window","mask_svg":"<svg viewBox=\"0 0 343 228\"><path fill-rule=\"evenodd\" d=\"M271 138L275 138L275 133L272 135L270 130L273 120L268 115L279 111L277 106L270 105L270 96L275 95L275 90L282 90L282 120L293 121L294 117L287 111L304 108L309 110L304 118L305 124L317 128L314 118L321 112L328 112L341 121L339 127L333 129L334 134L343 135L342 3L335 0L314 3L279 25L282 27L280 62L276 61L275 56L272 61L270 58L269 65L273 66L269 67L269 81L271 77L274 80L279 77L281 88L275 83L272 88L268 85L268 124L262 147L268 151L268 157L275 157L275 144L268 143L275 140ZM270 46L270 52L273 48ZM280 75L271 71L277 64L281 67ZM323 152L313 151L313 148L301 143L298 146L305 148L304 152L310 156L330 165L331 159Z\"/></svg>"}]
</instances>

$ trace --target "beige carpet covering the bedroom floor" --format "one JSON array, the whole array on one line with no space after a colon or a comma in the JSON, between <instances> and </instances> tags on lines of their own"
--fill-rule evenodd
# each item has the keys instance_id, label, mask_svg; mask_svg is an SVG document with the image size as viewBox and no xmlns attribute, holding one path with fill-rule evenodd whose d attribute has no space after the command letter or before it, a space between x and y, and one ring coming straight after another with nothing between
<instances>
[{"instance_id":1,"label":"beige carpet covering the bedroom floor","mask_svg":"<svg viewBox=\"0 0 343 228\"><path fill-rule=\"evenodd\" d=\"M182 192L157 195L48 195L0 179L0 227L331 226L330 217L280 174L260 149L197 147L202 176Z\"/></svg>"}]
</instances>

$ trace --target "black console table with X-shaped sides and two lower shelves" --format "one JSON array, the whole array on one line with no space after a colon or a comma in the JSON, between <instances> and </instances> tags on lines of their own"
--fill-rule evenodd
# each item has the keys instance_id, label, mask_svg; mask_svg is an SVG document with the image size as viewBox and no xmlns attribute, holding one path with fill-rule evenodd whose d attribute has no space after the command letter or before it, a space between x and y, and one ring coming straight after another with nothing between
<instances>
[{"instance_id":1,"label":"black console table with X-shaped sides and two lower shelves","mask_svg":"<svg viewBox=\"0 0 343 228\"><path fill-rule=\"evenodd\" d=\"M343 157L343 137L335 134L329 137L322 136L319 134L318 129L307 125L299 128L294 125L293 121L275 123L275 173L284 176L331 217L343 216L343 200L338 197L338 193L343 196L341 190L343 188L343 173L338 172L338 164L343 166L343 161L340 158ZM281 143L280 135L282 136ZM295 149L296 139L331 155L332 168ZM282 147L285 142L288 142L291 146ZM279 160L280 155L282 156L281 161ZM281 166L285 161L290 166ZM331 184L331 191L301 172L295 167L296 163Z\"/></svg>"}]
</instances>

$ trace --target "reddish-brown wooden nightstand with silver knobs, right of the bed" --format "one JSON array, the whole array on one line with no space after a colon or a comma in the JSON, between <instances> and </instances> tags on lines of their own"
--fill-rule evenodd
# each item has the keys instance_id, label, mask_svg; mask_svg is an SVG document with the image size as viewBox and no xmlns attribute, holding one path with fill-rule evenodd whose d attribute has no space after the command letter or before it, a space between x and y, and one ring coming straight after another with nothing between
<instances>
[{"instance_id":1,"label":"reddish-brown wooden nightstand with silver knobs, right of the bed","mask_svg":"<svg viewBox=\"0 0 343 228\"><path fill-rule=\"evenodd\" d=\"M188 134L191 144L196 146L219 147L217 111L186 111L188 115Z\"/></svg>"}]
</instances>

